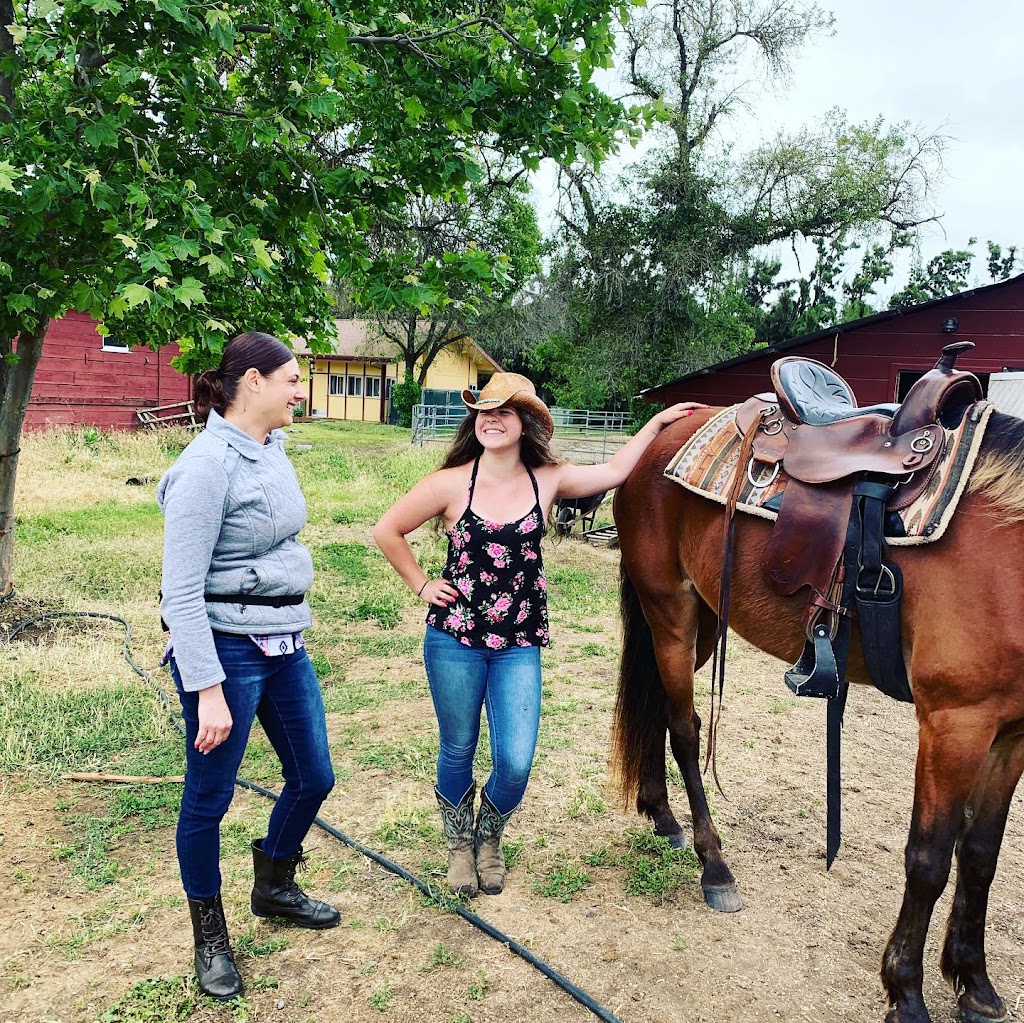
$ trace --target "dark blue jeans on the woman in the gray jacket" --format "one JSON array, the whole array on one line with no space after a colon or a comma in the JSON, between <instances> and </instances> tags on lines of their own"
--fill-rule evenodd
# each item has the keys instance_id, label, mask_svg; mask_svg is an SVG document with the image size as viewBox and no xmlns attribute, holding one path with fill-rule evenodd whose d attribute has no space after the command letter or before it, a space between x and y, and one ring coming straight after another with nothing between
<instances>
[{"instance_id":1,"label":"dark blue jeans on the woman in the gray jacket","mask_svg":"<svg viewBox=\"0 0 1024 1023\"><path fill-rule=\"evenodd\" d=\"M263 851L271 859L297 853L328 793L334 769L327 741L324 699L304 649L268 657L248 636L215 632L222 683L231 712L227 738L204 755L196 749L199 693L181 688L174 657L171 674L185 723L185 784L178 815L181 882L190 899L220 891L220 821L234 795L234 778L258 718L281 758L285 787L273 806Z\"/></svg>"}]
</instances>

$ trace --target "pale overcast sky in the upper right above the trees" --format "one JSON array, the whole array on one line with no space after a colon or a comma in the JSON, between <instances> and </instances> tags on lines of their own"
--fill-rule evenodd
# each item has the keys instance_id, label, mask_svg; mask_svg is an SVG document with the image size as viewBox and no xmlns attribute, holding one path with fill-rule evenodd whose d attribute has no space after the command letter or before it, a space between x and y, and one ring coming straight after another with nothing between
<instances>
[{"instance_id":1,"label":"pale overcast sky in the upper right above the trees","mask_svg":"<svg viewBox=\"0 0 1024 1023\"><path fill-rule=\"evenodd\" d=\"M923 257L965 247L972 237L979 253L989 239L1004 249L1024 246L1024 2L820 5L836 15L835 35L807 44L788 88L752 83L753 111L734 119L732 138L771 138L818 122L836 106L855 123L881 115L890 124L939 131L949 136L945 176L935 191L944 216L940 226L925 228ZM543 210L550 185L542 178L538 190Z\"/></svg>"}]
</instances>

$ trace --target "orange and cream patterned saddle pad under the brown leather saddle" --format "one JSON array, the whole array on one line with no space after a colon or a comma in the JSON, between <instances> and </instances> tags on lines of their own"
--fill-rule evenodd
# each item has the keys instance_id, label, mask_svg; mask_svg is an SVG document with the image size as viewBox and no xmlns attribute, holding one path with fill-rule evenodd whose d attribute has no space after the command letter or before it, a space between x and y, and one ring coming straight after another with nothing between
<instances>
[{"instance_id":1,"label":"orange and cream patterned saddle pad under the brown leather saddle","mask_svg":"<svg viewBox=\"0 0 1024 1023\"><path fill-rule=\"evenodd\" d=\"M666 476L694 494L724 505L736 472L742 440L735 423L738 408L723 409L697 430L666 467ZM906 536L889 537L889 544L930 544L945 532L971 476L992 411L993 406L988 401L978 401L968 409L957 427L943 428L944 450L934 464L928 485L911 505L895 513ZM739 471L745 472L745 467ZM784 472L779 472L763 487L755 486L748 479L737 507L751 515L774 521L778 513L765 506L785 489L787 481Z\"/></svg>"}]
</instances>

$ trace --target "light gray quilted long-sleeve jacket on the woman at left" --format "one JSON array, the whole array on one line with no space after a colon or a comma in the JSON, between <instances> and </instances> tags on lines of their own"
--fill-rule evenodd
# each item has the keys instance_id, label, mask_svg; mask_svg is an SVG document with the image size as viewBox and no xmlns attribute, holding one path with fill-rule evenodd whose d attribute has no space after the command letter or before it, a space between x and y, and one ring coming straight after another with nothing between
<instances>
[{"instance_id":1,"label":"light gray quilted long-sleeve jacket on the woman at left","mask_svg":"<svg viewBox=\"0 0 1024 1023\"><path fill-rule=\"evenodd\" d=\"M306 502L285 454L285 433L266 443L210 413L206 429L157 486L164 512L163 598L174 659L188 691L224 680L213 630L236 635L300 632L303 601L285 607L208 603L206 593L305 593L309 552L296 539Z\"/></svg>"}]
</instances>

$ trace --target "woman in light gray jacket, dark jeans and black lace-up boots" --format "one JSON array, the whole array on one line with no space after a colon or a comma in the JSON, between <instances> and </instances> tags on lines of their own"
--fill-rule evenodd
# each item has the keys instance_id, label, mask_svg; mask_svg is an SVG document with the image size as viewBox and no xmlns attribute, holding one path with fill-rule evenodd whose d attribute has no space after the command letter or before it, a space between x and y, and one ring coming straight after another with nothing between
<instances>
[{"instance_id":1,"label":"woman in light gray jacket, dark jeans and black lace-up boots","mask_svg":"<svg viewBox=\"0 0 1024 1023\"><path fill-rule=\"evenodd\" d=\"M302 639L309 552L296 540L306 504L282 427L304 394L291 349L242 334L194 386L206 429L161 479L165 516L160 610L185 723L186 772L177 827L196 973L221 1000L244 987L220 899L220 821L258 718L285 786L267 835L252 844L252 911L308 928L338 911L295 883L302 841L334 785L319 683Z\"/></svg>"}]
</instances>

